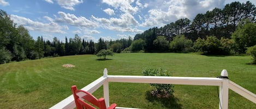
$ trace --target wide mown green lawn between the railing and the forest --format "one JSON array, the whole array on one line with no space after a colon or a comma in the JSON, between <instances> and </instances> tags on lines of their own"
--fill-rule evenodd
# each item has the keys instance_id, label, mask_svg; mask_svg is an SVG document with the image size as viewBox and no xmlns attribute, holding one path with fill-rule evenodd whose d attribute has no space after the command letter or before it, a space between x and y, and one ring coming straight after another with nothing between
<instances>
[{"instance_id":1,"label":"wide mown green lawn between the railing and the forest","mask_svg":"<svg viewBox=\"0 0 256 109\"><path fill-rule=\"evenodd\" d=\"M97 60L76 55L0 65L0 108L50 108L71 95L70 87L85 87L103 75L142 75L145 67L162 67L172 76L216 77L227 69L230 80L256 93L256 66L249 56L204 56L177 53L124 53ZM71 63L74 68L64 68ZM175 85L174 98L150 96L148 84L111 82L110 103L136 108L218 108L216 86ZM103 88L93 93L103 97ZM256 104L229 90L229 108L256 108Z\"/></svg>"}]
</instances>

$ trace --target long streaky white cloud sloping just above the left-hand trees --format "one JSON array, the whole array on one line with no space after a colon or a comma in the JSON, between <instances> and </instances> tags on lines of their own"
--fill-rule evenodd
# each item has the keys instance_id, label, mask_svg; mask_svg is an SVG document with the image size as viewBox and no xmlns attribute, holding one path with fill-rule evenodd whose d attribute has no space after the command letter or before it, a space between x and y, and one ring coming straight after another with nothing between
<instances>
[{"instance_id":1,"label":"long streaky white cloud sloping just above the left-hand trees","mask_svg":"<svg viewBox=\"0 0 256 109\"><path fill-rule=\"evenodd\" d=\"M17 15L10 15L11 19L14 21L14 23L17 23L18 25L23 25L25 28L31 31L42 31L47 33L61 33L65 34L66 32L62 29L66 29L66 27L62 27L58 25L55 22L50 23L41 23L41 22L35 22L30 20L29 18L17 16Z\"/></svg>"}]
</instances>

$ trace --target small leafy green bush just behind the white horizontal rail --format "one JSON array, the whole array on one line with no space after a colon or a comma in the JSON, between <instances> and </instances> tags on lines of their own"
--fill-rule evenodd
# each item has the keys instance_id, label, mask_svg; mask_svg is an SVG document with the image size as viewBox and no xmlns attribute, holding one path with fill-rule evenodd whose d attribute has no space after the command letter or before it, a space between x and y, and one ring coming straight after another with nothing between
<instances>
[{"instance_id":1,"label":"small leafy green bush just behind the white horizontal rail","mask_svg":"<svg viewBox=\"0 0 256 109\"><path fill-rule=\"evenodd\" d=\"M153 69L149 67L144 68L142 70L142 74L145 76L171 76L171 74L168 73L167 70L163 68ZM162 96L165 96L166 94L172 95L174 93L174 85L172 84L150 84L150 85L156 88L156 90L154 91L154 94L161 94Z\"/></svg>"}]
</instances>

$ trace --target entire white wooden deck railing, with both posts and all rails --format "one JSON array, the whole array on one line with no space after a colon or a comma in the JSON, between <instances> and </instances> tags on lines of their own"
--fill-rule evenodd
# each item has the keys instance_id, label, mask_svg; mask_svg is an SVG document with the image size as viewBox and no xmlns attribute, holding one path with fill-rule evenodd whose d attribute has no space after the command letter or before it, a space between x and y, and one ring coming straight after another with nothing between
<instances>
[{"instance_id":1,"label":"entire white wooden deck railing, with both posts and all rails","mask_svg":"<svg viewBox=\"0 0 256 109\"><path fill-rule=\"evenodd\" d=\"M247 89L235 84L234 82L225 79L228 77L227 70L223 69L221 73L223 78L201 78L201 77L177 77L177 76L123 76L123 75L108 75L108 70L104 69L104 75L93 81L91 84L82 88L83 90L93 93L103 85L104 99L106 106L109 106L109 82L133 82L133 83L151 83L151 84L178 84L178 85L205 85L219 86L219 109L228 109L228 91L229 89L242 95L248 100L256 104L256 95L249 92ZM58 102L50 109L71 109L75 108L73 95ZM116 109L127 109L128 107L116 107Z\"/></svg>"}]
</instances>

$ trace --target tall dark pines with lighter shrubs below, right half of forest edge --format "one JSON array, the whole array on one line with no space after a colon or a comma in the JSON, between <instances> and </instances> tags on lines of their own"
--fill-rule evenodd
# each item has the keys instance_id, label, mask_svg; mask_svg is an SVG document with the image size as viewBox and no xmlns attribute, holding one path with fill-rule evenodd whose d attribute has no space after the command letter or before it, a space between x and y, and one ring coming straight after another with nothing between
<instances>
[{"instance_id":1,"label":"tall dark pines with lighter shrubs below, right half of forest edge","mask_svg":"<svg viewBox=\"0 0 256 109\"><path fill-rule=\"evenodd\" d=\"M198 14L192 21L180 18L163 27L136 34L130 50L144 52L203 52L240 54L256 44L255 5L232 2ZM214 46L214 47L213 47Z\"/></svg>"}]
</instances>

